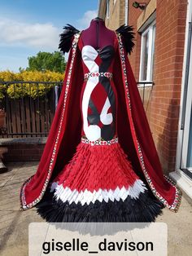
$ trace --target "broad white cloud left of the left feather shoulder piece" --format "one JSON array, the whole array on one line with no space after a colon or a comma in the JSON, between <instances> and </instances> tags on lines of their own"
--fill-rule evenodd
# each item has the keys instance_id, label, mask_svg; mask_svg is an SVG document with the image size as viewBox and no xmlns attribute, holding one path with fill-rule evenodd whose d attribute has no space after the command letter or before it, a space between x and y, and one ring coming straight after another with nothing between
<instances>
[{"instance_id":1,"label":"broad white cloud left of the left feather shoulder piece","mask_svg":"<svg viewBox=\"0 0 192 256\"><path fill-rule=\"evenodd\" d=\"M58 50L59 29L53 24L21 23L0 18L0 44L3 46L31 46L39 50Z\"/></svg>"}]
</instances>

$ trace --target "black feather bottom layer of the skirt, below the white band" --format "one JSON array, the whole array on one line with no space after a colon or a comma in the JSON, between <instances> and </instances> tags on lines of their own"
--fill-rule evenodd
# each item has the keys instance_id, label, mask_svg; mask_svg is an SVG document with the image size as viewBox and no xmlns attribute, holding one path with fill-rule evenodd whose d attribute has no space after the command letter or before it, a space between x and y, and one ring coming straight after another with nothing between
<instances>
[{"instance_id":1,"label":"black feather bottom layer of the skirt, below the white band","mask_svg":"<svg viewBox=\"0 0 192 256\"><path fill-rule=\"evenodd\" d=\"M151 192L140 193L139 198L128 196L125 201L108 201L81 205L74 202L69 205L60 199L56 201L54 192L46 191L36 205L37 213L47 222L155 222L158 215L163 214L163 203Z\"/></svg>"}]
</instances>

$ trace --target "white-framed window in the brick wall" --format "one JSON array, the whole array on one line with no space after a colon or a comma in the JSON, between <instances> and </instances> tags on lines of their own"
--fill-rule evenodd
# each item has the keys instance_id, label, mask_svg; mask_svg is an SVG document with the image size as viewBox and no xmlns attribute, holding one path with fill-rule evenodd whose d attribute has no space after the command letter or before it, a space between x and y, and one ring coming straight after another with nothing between
<instances>
[{"instance_id":1,"label":"white-framed window in the brick wall","mask_svg":"<svg viewBox=\"0 0 192 256\"><path fill-rule=\"evenodd\" d=\"M139 82L153 82L155 58L155 21L142 32Z\"/></svg>"}]
</instances>

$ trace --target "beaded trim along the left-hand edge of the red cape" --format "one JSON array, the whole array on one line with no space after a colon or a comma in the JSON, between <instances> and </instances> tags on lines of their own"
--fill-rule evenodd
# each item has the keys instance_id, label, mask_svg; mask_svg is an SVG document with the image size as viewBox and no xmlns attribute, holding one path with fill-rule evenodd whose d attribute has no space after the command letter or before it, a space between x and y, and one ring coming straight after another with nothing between
<instances>
[{"instance_id":1,"label":"beaded trim along the left-hand edge of the red cape","mask_svg":"<svg viewBox=\"0 0 192 256\"><path fill-rule=\"evenodd\" d=\"M53 163L55 161L55 153L56 153L57 145L58 145L58 142L59 142L59 135L60 135L60 132L61 132L62 126L63 126L63 116L64 116L65 106L66 106L66 102L67 102L67 98L68 98L69 84L70 84L71 76L72 76L72 67L73 67L73 63L74 63L74 60L75 60L76 47L77 47L77 43L78 43L80 35L81 35L81 31L74 35L74 39L72 41L72 61L70 63L69 70L68 70L68 77L67 77L67 82L66 82L65 95L64 95L64 99L63 99L63 111L62 111L61 119L60 119L60 122L59 122L58 134L57 134L57 137L55 139L54 150L52 152L52 156L51 156L51 159L50 159L50 166L49 166L49 169L48 169L48 172L47 172L46 181L43 184L40 195L32 203L30 203L28 205L26 204L26 200L25 200L25 196L24 196L24 189L25 189L26 185L30 182L30 180L33 178L33 176L31 176L30 178L28 178L25 181L25 183L23 184L23 186L20 190L21 210L27 210L28 208L32 208L33 205L36 205L39 201L41 201L42 196L46 192L46 187L49 183L50 174L51 174L51 171L53 169Z\"/></svg>"}]
</instances>

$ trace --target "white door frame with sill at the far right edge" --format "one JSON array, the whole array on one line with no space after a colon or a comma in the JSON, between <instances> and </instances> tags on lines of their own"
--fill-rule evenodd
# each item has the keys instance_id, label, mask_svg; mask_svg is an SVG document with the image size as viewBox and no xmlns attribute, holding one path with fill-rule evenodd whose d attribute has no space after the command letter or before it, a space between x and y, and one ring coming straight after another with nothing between
<instances>
[{"instance_id":1,"label":"white door frame with sill at the far right edge","mask_svg":"<svg viewBox=\"0 0 192 256\"><path fill-rule=\"evenodd\" d=\"M185 49L184 49L183 71L182 71L182 82L181 82L181 101L180 101L180 113L179 113L179 122L178 122L176 166L175 166L175 171L169 173L169 176L192 199L192 179L190 179L189 176L185 174L183 170L181 170L182 167L186 165L186 157L187 157L186 149L188 146L189 130L190 130L190 123L189 123L190 116L188 115L190 114L190 111L191 111L190 104L192 101L191 99L192 48L189 55L189 35L190 35L189 29L192 21L192 1L188 0L187 3L188 4L187 4L187 16L186 16L186 26L185 26ZM189 67L187 66L188 63L190 63ZM188 71L190 71L189 78L187 77ZM183 147L183 143L185 143L184 147Z\"/></svg>"}]
</instances>

